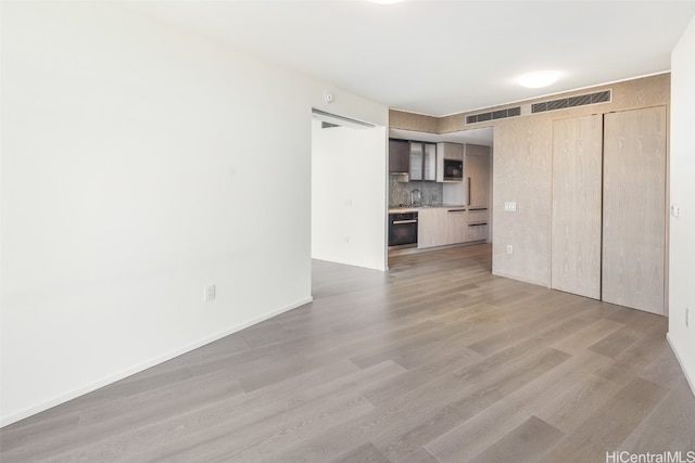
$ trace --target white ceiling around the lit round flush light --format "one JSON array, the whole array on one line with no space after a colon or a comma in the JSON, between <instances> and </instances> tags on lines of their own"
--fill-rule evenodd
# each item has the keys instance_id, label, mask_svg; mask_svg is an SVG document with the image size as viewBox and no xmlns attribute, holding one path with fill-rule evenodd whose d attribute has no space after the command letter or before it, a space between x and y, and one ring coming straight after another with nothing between
<instances>
[{"instance_id":1,"label":"white ceiling around the lit round flush light","mask_svg":"<svg viewBox=\"0 0 695 463\"><path fill-rule=\"evenodd\" d=\"M688 1L132 1L393 108L443 116L670 69ZM530 90L520 74L556 69Z\"/></svg>"}]
</instances>

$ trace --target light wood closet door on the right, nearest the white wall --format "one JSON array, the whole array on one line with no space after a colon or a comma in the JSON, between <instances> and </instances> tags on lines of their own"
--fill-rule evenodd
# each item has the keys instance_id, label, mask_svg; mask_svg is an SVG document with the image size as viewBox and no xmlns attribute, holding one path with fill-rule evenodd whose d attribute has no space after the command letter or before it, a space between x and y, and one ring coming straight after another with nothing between
<instances>
[{"instance_id":1,"label":"light wood closet door on the right, nearest the white wall","mask_svg":"<svg viewBox=\"0 0 695 463\"><path fill-rule=\"evenodd\" d=\"M666 108L604 121L603 299L665 314Z\"/></svg>"}]
</instances>

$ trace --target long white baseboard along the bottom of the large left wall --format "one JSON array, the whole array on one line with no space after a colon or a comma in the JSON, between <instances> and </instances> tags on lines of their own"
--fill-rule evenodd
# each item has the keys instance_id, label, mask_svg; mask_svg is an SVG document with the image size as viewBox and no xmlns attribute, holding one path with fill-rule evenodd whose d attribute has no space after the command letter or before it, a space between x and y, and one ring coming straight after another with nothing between
<instances>
[{"instance_id":1,"label":"long white baseboard along the bottom of the large left wall","mask_svg":"<svg viewBox=\"0 0 695 463\"><path fill-rule=\"evenodd\" d=\"M112 383L115 383L116 381L121 381L121 380L123 380L125 377L131 376L131 375L134 375L136 373L139 373L139 372L141 372L143 370L147 370L149 368L152 368L154 365L163 363L163 362L165 362L167 360L172 360L173 358L181 356L181 355L184 355L186 352L190 352L191 350L198 349L199 347L202 347L202 346L204 346L206 344L213 343L213 342L215 342L217 339L220 339L220 338L223 338L225 336L229 336L230 334L233 334L233 333L236 333L238 331L241 331L244 327L249 327L249 326L254 325L256 323L261 323L264 320L270 319L273 317L279 316L280 313L285 313L285 312L287 312L289 310L292 310L292 309L295 309L295 308L298 308L300 306L308 304L312 300L314 300L314 298L313 297L308 297L306 299L296 301L296 303L294 303L294 304L292 304L290 306L283 307L281 309L278 309L278 310L275 310L275 311L271 311L271 312L268 312L268 313L264 313L261 317L257 317L255 319L249 320L249 321L240 323L238 325L228 327L228 329L226 329L226 330L224 330L224 331L222 331L219 333L215 333L215 334L213 334L211 336L206 336L206 337L204 337L202 339L198 339L198 340L195 340L193 343L187 344L186 346L182 346L180 348L170 350L170 351L168 351L168 352L166 352L166 353L164 353L162 356L157 356L155 358L149 359L149 360L147 360L147 361L144 361L142 363L139 363L137 365L134 365L134 366L131 366L129 369L122 370L122 371L119 371L119 372L117 372L117 373L115 373L113 375L109 375L109 376L106 376L104 378L101 378L99 381L90 383L90 384L88 384L88 385L86 385L84 387L79 387L79 388L77 388L75 390L71 390L67 394L62 394L62 395L60 395L58 397L54 397L54 398L52 398L50 400L47 400L47 401L41 402L41 403L38 403L38 404L34 406L34 407L29 407L29 408L27 408L25 410L22 410L21 412L13 413L13 414L8 415L8 416L2 416L2 417L0 417L0 427L4 427L4 426L8 426L8 425L10 425L12 423L16 423L16 422L18 422L21 420L24 420L26 417L29 417L31 415L35 415L35 414L40 413L42 411L46 411L46 410L48 410L50 408L53 408L53 407L59 406L61 403L64 403L64 402L66 402L68 400L72 400L72 399L75 399L75 398L77 398L79 396L84 396L85 394L91 393L92 390L97 390L100 387L108 386L108 385L110 385Z\"/></svg>"}]
</instances>

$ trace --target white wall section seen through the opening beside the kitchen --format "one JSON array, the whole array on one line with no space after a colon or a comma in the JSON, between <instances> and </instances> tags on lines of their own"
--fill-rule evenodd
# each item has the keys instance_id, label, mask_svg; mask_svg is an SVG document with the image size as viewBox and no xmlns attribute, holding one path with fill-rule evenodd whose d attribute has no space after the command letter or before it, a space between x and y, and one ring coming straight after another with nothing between
<instances>
[{"instance_id":1,"label":"white wall section seen through the opening beside the kitchen","mask_svg":"<svg viewBox=\"0 0 695 463\"><path fill-rule=\"evenodd\" d=\"M386 127L312 133L312 257L386 270Z\"/></svg>"}]
</instances>

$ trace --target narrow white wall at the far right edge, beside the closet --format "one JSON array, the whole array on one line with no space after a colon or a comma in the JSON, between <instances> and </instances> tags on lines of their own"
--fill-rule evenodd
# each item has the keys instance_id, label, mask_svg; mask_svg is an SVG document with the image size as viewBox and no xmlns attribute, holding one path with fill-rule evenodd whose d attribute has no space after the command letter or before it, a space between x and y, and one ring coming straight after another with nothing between
<instances>
[{"instance_id":1,"label":"narrow white wall at the far right edge, beside the closet","mask_svg":"<svg viewBox=\"0 0 695 463\"><path fill-rule=\"evenodd\" d=\"M669 334L695 393L695 17L671 55L671 217ZM690 327L685 309L690 309Z\"/></svg>"}]
</instances>

